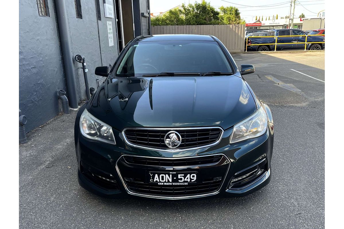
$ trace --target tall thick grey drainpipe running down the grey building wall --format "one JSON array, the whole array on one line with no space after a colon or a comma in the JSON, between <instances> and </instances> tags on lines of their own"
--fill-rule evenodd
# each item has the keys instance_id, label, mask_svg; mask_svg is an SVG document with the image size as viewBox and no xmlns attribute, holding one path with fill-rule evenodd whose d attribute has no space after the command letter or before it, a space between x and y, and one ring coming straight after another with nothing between
<instances>
[{"instance_id":1,"label":"tall thick grey drainpipe running down the grey building wall","mask_svg":"<svg viewBox=\"0 0 344 229\"><path fill-rule=\"evenodd\" d=\"M63 63L65 67L69 104L72 108L78 108L78 99L76 95L76 83L73 66L72 41L68 29L67 13L65 0L55 1L58 30L62 46Z\"/></svg>"}]
</instances>

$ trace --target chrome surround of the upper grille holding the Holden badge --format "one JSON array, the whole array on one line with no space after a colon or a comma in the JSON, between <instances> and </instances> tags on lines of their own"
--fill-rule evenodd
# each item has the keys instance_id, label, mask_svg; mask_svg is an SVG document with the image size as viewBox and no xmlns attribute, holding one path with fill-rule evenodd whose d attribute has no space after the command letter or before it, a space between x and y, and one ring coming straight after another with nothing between
<instances>
[{"instance_id":1,"label":"chrome surround of the upper grille holding the Holden badge","mask_svg":"<svg viewBox=\"0 0 344 229\"><path fill-rule=\"evenodd\" d=\"M201 146L191 146L191 147L183 147L181 148L179 146L179 148L174 148L174 149L165 149L165 148L159 148L159 147L152 147L152 146L143 146L143 145L139 145L139 144L135 144L133 142L131 142L130 140L128 140L127 136L126 136L126 131L127 130L153 130L153 131L187 131L187 130L206 130L206 129L212 129L212 130L218 130L220 131L220 134L218 135L218 138L216 141L211 142L210 144L207 145L201 145ZM218 126L214 126L214 127L169 127L169 128L164 128L164 127L159 127L159 128L150 128L150 127L127 127L125 129L123 129L122 131L122 136L124 141L129 145L129 146L133 146L136 148L141 148L141 149L149 149L149 150L158 150L158 151L166 151L166 152L179 152L179 151L185 151L185 150L192 150L192 149L199 149L199 148L203 148L203 147L209 147L209 146L214 146L216 144L218 144L223 136L223 132L224 130L221 127ZM179 132L178 132L179 133ZM159 137L161 139L161 137ZM185 138L185 134L184 134L184 138ZM184 139L183 138L183 139ZM210 139L209 139L210 141ZM182 144L181 144L182 145Z\"/></svg>"}]
</instances>

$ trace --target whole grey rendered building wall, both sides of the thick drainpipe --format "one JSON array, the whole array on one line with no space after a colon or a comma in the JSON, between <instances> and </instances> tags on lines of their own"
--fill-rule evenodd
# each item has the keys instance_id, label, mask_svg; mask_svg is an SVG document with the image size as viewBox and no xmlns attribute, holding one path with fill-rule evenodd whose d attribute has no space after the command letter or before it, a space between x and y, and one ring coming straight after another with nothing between
<instances>
[{"instance_id":1,"label":"whole grey rendered building wall, both sides of the thick drainpipe","mask_svg":"<svg viewBox=\"0 0 344 229\"><path fill-rule=\"evenodd\" d=\"M39 16L36 1L19 0L19 108L28 117L27 132L60 112L56 91L66 90L54 1L48 0L50 17L44 17ZM76 18L74 0L65 2L73 59L77 54L85 56L89 86L96 88L96 79L101 77L94 75L95 67L112 65L118 56L116 18L105 18L102 0L101 21L97 19L95 0L81 0L83 19ZM111 47L107 21L112 21L114 32ZM74 66L78 98L84 100L82 64L74 61Z\"/></svg>"}]
</instances>

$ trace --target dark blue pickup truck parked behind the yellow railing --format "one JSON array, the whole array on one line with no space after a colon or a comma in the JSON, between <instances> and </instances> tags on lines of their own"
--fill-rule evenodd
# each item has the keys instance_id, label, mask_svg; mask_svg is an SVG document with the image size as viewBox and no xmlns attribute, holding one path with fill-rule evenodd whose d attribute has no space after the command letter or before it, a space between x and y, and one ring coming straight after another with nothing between
<instances>
[{"instance_id":1,"label":"dark blue pickup truck parked behind the yellow railing","mask_svg":"<svg viewBox=\"0 0 344 229\"><path fill-rule=\"evenodd\" d=\"M304 49L307 35L301 30L297 29L278 29L271 30L267 36L290 36L290 37L277 37L276 50L297 50ZM247 39L247 51L273 51L275 50L275 37L249 37ZM307 36L307 42L325 42L324 36ZM286 44L283 44L286 43ZM268 44L268 45L253 45L253 44ZM271 45L270 45L271 44ZM307 44L307 50L321 50L325 49L325 43ZM246 41L245 41L246 49Z\"/></svg>"}]
</instances>

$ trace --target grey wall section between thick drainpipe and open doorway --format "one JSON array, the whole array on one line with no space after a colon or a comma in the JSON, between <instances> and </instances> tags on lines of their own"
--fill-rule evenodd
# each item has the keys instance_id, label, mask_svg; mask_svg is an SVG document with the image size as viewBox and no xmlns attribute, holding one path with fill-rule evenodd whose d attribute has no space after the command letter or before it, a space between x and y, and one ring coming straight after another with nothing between
<instances>
[{"instance_id":1,"label":"grey wall section between thick drainpipe and open doorway","mask_svg":"<svg viewBox=\"0 0 344 229\"><path fill-rule=\"evenodd\" d=\"M97 19L96 3L94 0L81 0L82 19L76 18L74 0L66 0L66 4L73 56L77 54L85 56L89 87L96 88L96 79L101 79L101 77L95 76L94 69L98 66L112 65L118 56L117 36L115 33L117 31L116 19L105 18L104 4L102 4L102 1L100 1L101 21ZM112 22L114 46L109 46L107 21ZM83 71L80 69L82 65L74 61L74 66L78 79L77 93L79 99L84 100L86 99L86 89Z\"/></svg>"}]
</instances>

